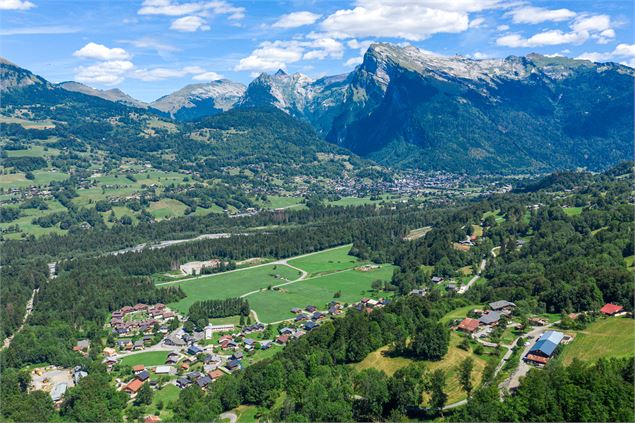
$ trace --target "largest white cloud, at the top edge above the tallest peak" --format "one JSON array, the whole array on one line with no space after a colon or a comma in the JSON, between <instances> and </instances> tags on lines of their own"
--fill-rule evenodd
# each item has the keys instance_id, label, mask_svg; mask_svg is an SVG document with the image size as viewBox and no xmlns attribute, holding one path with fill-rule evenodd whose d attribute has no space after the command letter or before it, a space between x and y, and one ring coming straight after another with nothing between
<instances>
[{"instance_id":1,"label":"largest white cloud, at the top edge above the tallest peak","mask_svg":"<svg viewBox=\"0 0 635 423\"><path fill-rule=\"evenodd\" d=\"M469 12L497 4L497 0L358 0L355 8L328 16L321 27L339 38L395 37L421 41L436 33L463 32L469 27Z\"/></svg>"}]
</instances>

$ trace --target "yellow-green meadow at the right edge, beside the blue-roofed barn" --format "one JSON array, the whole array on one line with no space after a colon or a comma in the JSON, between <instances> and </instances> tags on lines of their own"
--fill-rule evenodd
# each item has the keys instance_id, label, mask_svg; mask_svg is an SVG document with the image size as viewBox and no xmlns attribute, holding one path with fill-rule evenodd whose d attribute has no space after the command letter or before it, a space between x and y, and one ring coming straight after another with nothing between
<instances>
[{"instance_id":1,"label":"yellow-green meadow at the right edge, beside the blue-roofed barn","mask_svg":"<svg viewBox=\"0 0 635 423\"><path fill-rule=\"evenodd\" d=\"M611 317L598 320L576 333L575 339L563 347L558 360L569 364L574 358L595 361L602 357L635 355L635 321Z\"/></svg>"}]
</instances>

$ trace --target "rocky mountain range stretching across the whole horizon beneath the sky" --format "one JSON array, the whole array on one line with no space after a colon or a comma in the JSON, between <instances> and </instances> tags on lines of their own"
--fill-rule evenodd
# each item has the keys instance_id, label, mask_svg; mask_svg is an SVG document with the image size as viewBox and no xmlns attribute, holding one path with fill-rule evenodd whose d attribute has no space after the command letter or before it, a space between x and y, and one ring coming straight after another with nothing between
<instances>
[{"instance_id":1,"label":"rocky mountain range stretching across the whole horizon beneath the sky","mask_svg":"<svg viewBox=\"0 0 635 423\"><path fill-rule=\"evenodd\" d=\"M0 88L14 99L35 83L55 85L8 61L0 69ZM384 165L521 173L600 169L632 157L634 79L634 69L616 63L537 54L476 60L373 44L348 74L312 79L280 70L247 87L188 85L152 103L74 82L54 88L176 121L273 106Z\"/></svg>"}]
</instances>

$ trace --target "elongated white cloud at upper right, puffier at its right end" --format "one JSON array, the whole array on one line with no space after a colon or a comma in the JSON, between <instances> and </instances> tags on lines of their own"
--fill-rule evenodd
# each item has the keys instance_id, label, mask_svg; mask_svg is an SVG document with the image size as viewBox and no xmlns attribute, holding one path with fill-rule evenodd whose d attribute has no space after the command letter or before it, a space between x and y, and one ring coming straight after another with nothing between
<instances>
[{"instance_id":1,"label":"elongated white cloud at upper right, puffier at its right end","mask_svg":"<svg viewBox=\"0 0 635 423\"><path fill-rule=\"evenodd\" d=\"M560 44L582 44L589 38L605 44L615 36L608 15L581 15L570 25L571 31L551 29L525 38L520 34L508 34L496 40L504 47L540 47Z\"/></svg>"}]
</instances>

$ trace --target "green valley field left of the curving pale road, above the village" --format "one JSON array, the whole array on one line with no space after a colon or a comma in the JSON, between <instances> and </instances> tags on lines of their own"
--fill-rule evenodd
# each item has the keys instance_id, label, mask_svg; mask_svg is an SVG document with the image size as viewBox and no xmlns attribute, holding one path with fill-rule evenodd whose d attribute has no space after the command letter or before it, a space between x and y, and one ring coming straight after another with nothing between
<instances>
[{"instance_id":1,"label":"green valley field left of the curving pale road, above the village","mask_svg":"<svg viewBox=\"0 0 635 423\"><path fill-rule=\"evenodd\" d=\"M269 285L295 280L300 276L298 273L289 266L267 265L236 272L218 273L185 282L174 282L170 285L178 283L187 297L170 304L170 307L181 313L187 313L195 301L238 297L247 292L267 288ZM251 297L249 300L251 302Z\"/></svg>"}]
</instances>

